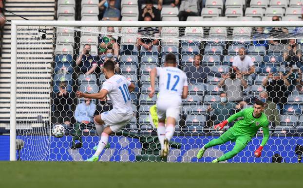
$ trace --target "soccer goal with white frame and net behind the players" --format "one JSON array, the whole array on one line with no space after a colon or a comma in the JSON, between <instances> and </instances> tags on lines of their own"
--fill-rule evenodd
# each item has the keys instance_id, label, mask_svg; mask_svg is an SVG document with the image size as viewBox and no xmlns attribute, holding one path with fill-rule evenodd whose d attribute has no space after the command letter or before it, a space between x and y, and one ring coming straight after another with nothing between
<instances>
[{"instance_id":1,"label":"soccer goal with white frame and net behind the players","mask_svg":"<svg viewBox=\"0 0 303 188\"><path fill-rule=\"evenodd\" d=\"M94 153L99 137L93 117L110 110L112 101L77 99L75 92L98 92L106 80L102 65L112 59L116 73L136 85L127 96L133 120L110 137L101 161L210 162L234 146L227 142L197 160L199 149L232 123L222 131L214 125L262 99L270 121L262 156L253 156L263 138L260 130L227 162L298 162L303 145L302 21L13 20L11 27L12 161L82 161ZM161 159L149 75L164 66L168 53L188 75L189 96L170 154ZM52 135L58 124L65 129L63 137Z\"/></svg>"}]
</instances>

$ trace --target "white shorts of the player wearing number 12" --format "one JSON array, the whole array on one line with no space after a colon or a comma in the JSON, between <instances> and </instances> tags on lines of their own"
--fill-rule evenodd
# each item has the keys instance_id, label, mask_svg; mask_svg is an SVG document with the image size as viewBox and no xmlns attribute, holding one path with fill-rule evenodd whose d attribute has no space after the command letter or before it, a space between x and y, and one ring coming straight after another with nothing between
<instances>
[{"instance_id":1,"label":"white shorts of the player wearing number 12","mask_svg":"<svg viewBox=\"0 0 303 188\"><path fill-rule=\"evenodd\" d=\"M167 100L157 101L157 115L159 120L165 120L167 117L171 117L178 121L180 117L180 111L181 103L168 103Z\"/></svg>"}]
</instances>

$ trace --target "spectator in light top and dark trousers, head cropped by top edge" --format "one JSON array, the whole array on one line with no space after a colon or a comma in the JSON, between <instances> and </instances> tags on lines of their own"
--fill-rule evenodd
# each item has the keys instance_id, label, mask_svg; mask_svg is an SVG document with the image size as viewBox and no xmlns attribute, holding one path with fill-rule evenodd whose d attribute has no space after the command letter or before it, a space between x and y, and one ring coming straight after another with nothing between
<instances>
[{"instance_id":1,"label":"spectator in light top and dark trousers, head cropped by top edge","mask_svg":"<svg viewBox=\"0 0 303 188\"><path fill-rule=\"evenodd\" d=\"M182 0L179 8L179 20L186 21L189 16L199 16L199 10L198 0Z\"/></svg>"}]
</instances>

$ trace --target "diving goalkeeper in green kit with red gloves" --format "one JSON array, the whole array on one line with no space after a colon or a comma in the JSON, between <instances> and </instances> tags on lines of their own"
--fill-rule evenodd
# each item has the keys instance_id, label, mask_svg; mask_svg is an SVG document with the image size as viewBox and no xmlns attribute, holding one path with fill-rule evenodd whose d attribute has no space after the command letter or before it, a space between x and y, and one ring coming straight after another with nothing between
<instances>
[{"instance_id":1,"label":"diving goalkeeper in green kit with red gloves","mask_svg":"<svg viewBox=\"0 0 303 188\"><path fill-rule=\"evenodd\" d=\"M223 127L230 123L233 120L243 117L241 120L237 120L233 127L227 130L221 137L217 139L213 139L208 142L197 154L197 158L200 159L205 151L216 145L221 145L226 143L227 141L235 141L236 144L234 148L222 155L221 157L212 161L212 163L218 163L220 161L228 160L234 157L236 154L241 152L247 145L247 143L251 140L252 137L255 137L256 133L258 132L259 128L263 128L263 140L260 147L255 151L255 156L260 157L261 152L263 150L264 145L266 144L268 137L269 137L269 129L268 129L268 120L262 111L264 110L264 103L262 101L256 101L254 103L253 108L246 108L232 116L230 116L227 120L215 125L215 129Z\"/></svg>"}]
</instances>

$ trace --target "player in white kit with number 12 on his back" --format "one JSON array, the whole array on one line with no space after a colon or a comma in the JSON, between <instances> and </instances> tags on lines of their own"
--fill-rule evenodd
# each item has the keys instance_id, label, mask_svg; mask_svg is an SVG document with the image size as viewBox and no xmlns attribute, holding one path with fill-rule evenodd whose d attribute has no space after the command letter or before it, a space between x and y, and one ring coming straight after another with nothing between
<instances>
[{"instance_id":1,"label":"player in white kit with number 12 on his back","mask_svg":"<svg viewBox=\"0 0 303 188\"><path fill-rule=\"evenodd\" d=\"M176 121L179 119L182 99L188 95L188 79L186 74L176 68L177 62L174 54L165 57L164 68L154 68L151 71L152 98L155 92L155 78L159 76L159 95L157 99L158 138L161 144L161 156L169 154L169 142L174 133ZM182 99L181 99L182 98ZM165 127L165 119L166 127Z\"/></svg>"}]
</instances>

